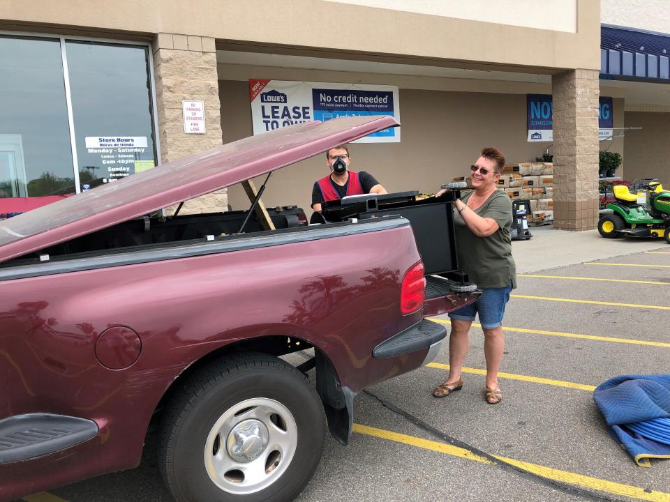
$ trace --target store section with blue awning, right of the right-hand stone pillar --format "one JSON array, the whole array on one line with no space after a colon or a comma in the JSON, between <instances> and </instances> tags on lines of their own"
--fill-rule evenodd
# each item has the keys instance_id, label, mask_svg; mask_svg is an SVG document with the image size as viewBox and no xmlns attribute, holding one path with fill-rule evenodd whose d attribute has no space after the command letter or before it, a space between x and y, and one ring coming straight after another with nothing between
<instances>
[{"instance_id":1,"label":"store section with blue awning, right of the right-hand stone pillar","mask_svg":"<svg viewBox=\"0 0 670 502\"><path fill-rule=\"evenodd\" d=\"M670 186L670 17L666 2L602 0L601 85L624 92L627 180Z\"/></svg>"}]
</instances>

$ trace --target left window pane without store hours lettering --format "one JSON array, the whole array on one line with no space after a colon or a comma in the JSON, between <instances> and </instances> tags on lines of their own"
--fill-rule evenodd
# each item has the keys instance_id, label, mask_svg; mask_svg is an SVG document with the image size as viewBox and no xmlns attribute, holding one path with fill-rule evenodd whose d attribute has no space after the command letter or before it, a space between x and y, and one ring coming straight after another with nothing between
<instances>
[{"instance_id":1,"label":"left window pane without store hours lettering","mask_svg":"<svg viewBox=\"0 0 670 502\"><path fill-rule=\"evenodd\" d=\"M0 197L74 188L60 41L0 37L0 74Z\"/></svg>"}]
</instances>

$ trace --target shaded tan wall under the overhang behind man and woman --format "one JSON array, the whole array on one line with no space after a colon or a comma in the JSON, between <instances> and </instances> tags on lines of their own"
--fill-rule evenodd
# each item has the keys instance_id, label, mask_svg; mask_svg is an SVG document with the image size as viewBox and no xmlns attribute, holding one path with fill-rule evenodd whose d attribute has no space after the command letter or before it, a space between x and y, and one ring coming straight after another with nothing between
<instances>
[{"instance_id":1,"label":"shaded tan wall under the overhang behind man and woman","mask_svg":"<svg viewBox=\"0 0 670 502\"><path fill-rule=\"evenodd\" d=\"M295 76L297 78L297 76ZM252 134L247 82L219 81L223 142ZM533 91L530 91L533 92ZM623 123L623 99L613 102L615 126ZM352 145L352 169L373 174L389 192L435 192L467 174L482 146L496 146L509 164L534 160L549 143L526 142L526 94L400 90L402 141ZM623 153L623 140L613 151ZM269 207L297 204L306 210L317 178L328 169L321 157L281 169L263 195ZM260 179L255 182L260 183ZM249 202L236 185L228 190L234 209Z\"/></svg>"}]
</instances>

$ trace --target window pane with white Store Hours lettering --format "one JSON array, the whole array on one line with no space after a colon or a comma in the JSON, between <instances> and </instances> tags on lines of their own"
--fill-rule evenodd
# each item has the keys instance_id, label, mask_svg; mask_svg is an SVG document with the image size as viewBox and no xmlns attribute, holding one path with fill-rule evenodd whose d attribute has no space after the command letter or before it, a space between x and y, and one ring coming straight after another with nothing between
<instances>
[{"instance_id":1,"label":"window pane with white Store Hours lettering","mask_svg":"<svg viewBox=\"0 0 670 502\"><path fill-rule=\"evenodd\" d=\"M147 47L66 43L82 188L154 166Z\"/></svg>"}]
</instances>

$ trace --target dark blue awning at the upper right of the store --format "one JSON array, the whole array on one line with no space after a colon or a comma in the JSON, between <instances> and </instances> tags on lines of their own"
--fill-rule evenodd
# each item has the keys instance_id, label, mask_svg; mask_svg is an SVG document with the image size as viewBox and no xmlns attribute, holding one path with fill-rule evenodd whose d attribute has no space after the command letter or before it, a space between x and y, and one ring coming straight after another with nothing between
<instances>
[{"instance_id":1,"label":"dark blue awning at the upper right of the store","mask_svg":"<svg viewBox=\"0 0 670 502\"><path fill-rule=\"evenodd\" d=\"M670 82L670 35L603 24L600 78Z\"/></svg>"}]
</instances>

